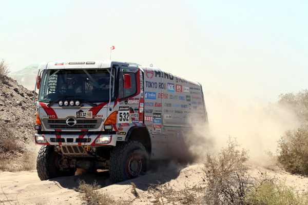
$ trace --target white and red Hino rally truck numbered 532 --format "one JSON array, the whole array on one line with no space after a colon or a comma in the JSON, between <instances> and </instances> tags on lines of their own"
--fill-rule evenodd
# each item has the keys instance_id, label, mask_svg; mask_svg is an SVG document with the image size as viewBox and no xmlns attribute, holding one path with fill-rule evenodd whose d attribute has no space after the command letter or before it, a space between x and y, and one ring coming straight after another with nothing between
<instances>
[{"instance_id":1,"label":"white and red Hino rally truck numbered 532","mask_svg":"<svg viewBox=\"0 0 308 205\"><path fill-rule=\"evenodd\" d=\"M41 180L77 168L109 170L113 182L137 177L149 160L175 157L184 138L194 137L193 121L207 124L202 86L151 66L44 62L36 89Z\"/></svg>"}]
</instances>

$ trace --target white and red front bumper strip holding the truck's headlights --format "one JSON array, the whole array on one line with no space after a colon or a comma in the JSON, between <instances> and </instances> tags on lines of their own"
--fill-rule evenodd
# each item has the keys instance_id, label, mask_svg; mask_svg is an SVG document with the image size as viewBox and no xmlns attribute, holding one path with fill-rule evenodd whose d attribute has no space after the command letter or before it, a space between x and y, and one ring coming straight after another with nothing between
<instances>
[{"instance_id":1,"label":"white and red front bumper strip holding the truck's headlights","mask_svg":"<svg viewBox=\"0 0 308 205\"><path fill-rule=\"evenodd\" d=\"M109 137L110 141L104 144L95 144L95 140L100 137ZM38 142L37 139L43 139ZM45 140L44 140L45 139ZM116 134L35 134L35 143L38 145L110 145L115 146L117 142Z\"/></svg>"}]
</instances>

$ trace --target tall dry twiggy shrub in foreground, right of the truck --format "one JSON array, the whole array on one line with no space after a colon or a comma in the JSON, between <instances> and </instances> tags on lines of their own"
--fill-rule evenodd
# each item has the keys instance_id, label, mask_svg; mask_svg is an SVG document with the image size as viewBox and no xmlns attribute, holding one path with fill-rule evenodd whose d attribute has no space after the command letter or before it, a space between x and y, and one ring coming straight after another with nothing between
<instances>
[{"instance_id":1,"label":"tall dry twiggy shrub in foreground, right of the truck","mask_svg":"<svg viewBox=\"0 0 308 205\"><path fill-rule=\"evenodd\" d=\"M226 148L217 155L207 153L204 172L207 186L204 192L204 204L245 204L245 192L253 185L248 175L248 152L238 150L237 141L229 139Z\"/></svg>"}]
</instances>

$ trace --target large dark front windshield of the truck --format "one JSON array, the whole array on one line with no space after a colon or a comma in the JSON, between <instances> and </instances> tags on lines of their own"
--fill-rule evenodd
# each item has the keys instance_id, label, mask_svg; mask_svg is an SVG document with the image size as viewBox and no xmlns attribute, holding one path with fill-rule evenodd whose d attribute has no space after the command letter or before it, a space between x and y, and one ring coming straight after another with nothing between
<instances>
[{"instance_id":1,"label":"large dark front windshield of the truck","mask_svg":"<svg viewBox=\"0 0 308 205\"><path fill-rule=\"evenodd\" d=\"M114 98L115 69L48 69L44 70L38 100L50 103L59 97L83 99L90 103ZM111 77L111 86L110 86Z\"/></svg>"}]
</instances>

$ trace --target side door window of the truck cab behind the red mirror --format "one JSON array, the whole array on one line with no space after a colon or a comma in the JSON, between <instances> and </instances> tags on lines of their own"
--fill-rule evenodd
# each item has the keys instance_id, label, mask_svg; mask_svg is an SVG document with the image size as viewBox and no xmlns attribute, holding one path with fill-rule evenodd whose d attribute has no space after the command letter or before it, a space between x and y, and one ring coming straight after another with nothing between
<instances>
[{"instance_id":1,"label":"side door window of the truck cab behind the red mirror","mask_svg":"<svg viewBox=\"0 0 308 205\"><path fill-rule=\"evenodd\" d=\"M131 80L131 87L130 88L124 88L123 86L123 75L124 74L129 74L130 75L130 80ZM119 98L127 98L130 96L133 96L134 94L137 93L137 80L136 80L136 74L135 73L129 73L129 72L122 72L120 74L120 86L119 86Z\"/></svg>"}]
</instances>

